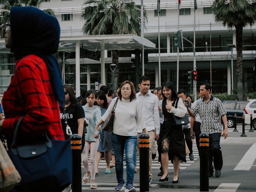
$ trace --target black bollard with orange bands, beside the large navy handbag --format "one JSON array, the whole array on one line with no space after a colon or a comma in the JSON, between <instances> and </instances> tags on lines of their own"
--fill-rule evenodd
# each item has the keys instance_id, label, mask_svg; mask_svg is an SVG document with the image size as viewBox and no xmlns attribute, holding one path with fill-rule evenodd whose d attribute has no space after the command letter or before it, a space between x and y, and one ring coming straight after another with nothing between
<instances>
[{"instance_id":1,"label":"black bollard with orange bands, beside the large navy handbag","mask_svg":"<svg viewBox=\"0 0 256 192\"><path fill-rule=\"evenodd\" d=\"M82 173L81 173L81 148L82 141L79 134L71 135L71 149L73 160L73 174L72 174L72 192L82 192Z\"/></svg>"}]
</instances>

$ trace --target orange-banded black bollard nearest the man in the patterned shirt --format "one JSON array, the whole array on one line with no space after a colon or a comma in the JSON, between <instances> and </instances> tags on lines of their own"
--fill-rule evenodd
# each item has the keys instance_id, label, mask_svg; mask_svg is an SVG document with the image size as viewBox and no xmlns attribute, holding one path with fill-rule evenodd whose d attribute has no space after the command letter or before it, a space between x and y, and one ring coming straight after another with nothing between
<instances>
[{"instance_id":1,"label":"orange-banded black bollard nearest the man in the patterned shirt","mask_svg":"<svg viewBox=\"0 0 256 192\"><path fill-rule=\"evenodd\" d=\"M200 191L209 191L209 134L199 135L200 150Z\"/></svg>"}]
</instances>

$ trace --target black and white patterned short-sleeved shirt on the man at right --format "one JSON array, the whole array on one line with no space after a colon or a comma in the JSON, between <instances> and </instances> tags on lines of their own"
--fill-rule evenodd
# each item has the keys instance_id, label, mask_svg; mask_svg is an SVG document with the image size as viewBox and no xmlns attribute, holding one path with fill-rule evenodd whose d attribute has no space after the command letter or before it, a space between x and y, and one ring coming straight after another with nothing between
<instances>
[{"instance_id":1,"label":"black and white patterned short-sleeved shirt on the man at right","mask_svg":"<svg viewBox=\"0 0 256 192\"><path fill-rule=\"evenodd\" d=\"M205 102L204 99L201 99L193 105L192 110L194 115L199 114L202 120L202 133L221 133L221 117L227 113L221 100L213 96L211 96L209 102Z\"/></svg>"}]
</instances>

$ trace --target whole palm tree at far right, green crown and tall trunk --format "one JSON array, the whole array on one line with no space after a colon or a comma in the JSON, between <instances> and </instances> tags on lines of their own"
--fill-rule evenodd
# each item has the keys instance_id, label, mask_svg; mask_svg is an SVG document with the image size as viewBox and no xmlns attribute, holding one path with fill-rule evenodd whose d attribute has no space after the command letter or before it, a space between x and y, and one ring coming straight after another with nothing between
<instances>
[{"instance_id":1,"label":"whole palm tree at far right, green crown and tall trunk","mask_svg":"<svg viewBox=\"0 0 256 192\"><path fill-rule=\"evenodd\" d=\"M255 0L215 0L212 4L215 21L229 29L236 28L237 96L243 100L243 28L256 22Z\"/></svg>"}]
</instances>

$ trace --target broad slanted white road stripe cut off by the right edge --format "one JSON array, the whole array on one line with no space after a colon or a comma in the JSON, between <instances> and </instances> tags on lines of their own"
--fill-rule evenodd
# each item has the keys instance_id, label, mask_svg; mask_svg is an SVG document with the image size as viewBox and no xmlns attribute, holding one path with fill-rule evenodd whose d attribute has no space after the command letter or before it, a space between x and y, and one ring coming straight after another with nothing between
<instances>
[{"instance_id":1,"label":"broad slanted white road stripe cut off by the right edge","mask_svg":"<svg viewBox=\"0 0 256 192\"><path fill-rule=\"evenodd\" d=\"M244 154L241 161L237 164L234 170L249 171L256 159L256 143L254 143L250 149Z\"/></svg>"}]
</instances>

